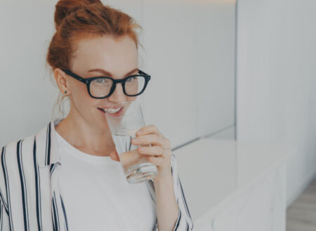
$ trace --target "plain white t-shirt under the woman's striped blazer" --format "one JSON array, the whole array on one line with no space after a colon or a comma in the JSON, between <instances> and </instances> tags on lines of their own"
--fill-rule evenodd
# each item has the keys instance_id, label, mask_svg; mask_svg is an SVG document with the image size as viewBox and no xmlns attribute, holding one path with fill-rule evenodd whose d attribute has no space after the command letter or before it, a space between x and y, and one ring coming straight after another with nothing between
<instances>
[{"instance_id":1,"label":"plain white t-shirt under the woman's striped blazer","mask_svg":"<svg viewBox=\"0 0 316 231\"><path fill-rule=\"evenodd\" d=\"M69 230L148 231L157 211L146 182L128 183L120 162L74 148L56 133Z\"/></svg>"}]
</instances>

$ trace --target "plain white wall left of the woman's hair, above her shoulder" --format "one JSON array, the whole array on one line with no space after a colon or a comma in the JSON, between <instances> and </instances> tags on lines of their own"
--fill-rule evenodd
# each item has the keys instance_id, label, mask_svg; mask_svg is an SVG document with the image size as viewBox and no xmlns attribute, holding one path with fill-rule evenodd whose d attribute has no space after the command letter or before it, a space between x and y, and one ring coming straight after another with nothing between
<instances>
[{"instance_id":1,"label":"plain white wall left of the woman's hair, above her shoulder","mask_svg":"<svg viewBox=\"0 0 316 231\"><path fill-rule=\"evenodd\" d=\"M0 1L0 146L38 132L55 91L45 69L55 1Z\"/></svg>"}]
</instances>

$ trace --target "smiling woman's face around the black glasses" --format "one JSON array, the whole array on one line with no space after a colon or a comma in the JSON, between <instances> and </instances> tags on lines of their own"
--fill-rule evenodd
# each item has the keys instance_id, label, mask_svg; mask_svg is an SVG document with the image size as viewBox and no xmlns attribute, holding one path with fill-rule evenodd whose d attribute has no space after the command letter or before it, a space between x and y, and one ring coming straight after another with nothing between
<instances>
[{"instance_id":1,"label":"smiling woman's face around the black glasses","mask_svg":"<svg viewBox=\"0 0 316 231\"><path fill-rule=\"evenodd\" d=\"M77 42L77 50L71 61L70 70L83 78L108 76L121 79L136 74L138 73L136 44L129 36L80 39ZM63 76L66 79L67 91L70 92L71 113L74 114L72 116L80 116L88 124L96 127L107 127L105 115L98 108L112 108L114 104L136 99L124 94L121 83L117 83L110 97L94 99L88 94L84 83L65 73Z\"/></svg>"}]
</instances>

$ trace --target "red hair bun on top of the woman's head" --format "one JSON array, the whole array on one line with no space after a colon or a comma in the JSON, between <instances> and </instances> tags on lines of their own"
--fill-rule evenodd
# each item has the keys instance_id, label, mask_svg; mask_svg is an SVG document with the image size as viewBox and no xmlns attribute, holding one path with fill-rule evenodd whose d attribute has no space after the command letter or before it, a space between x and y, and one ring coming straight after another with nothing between
<instances>
[{"instance_id":1,"label":"red hair bun on top of the woman's head","mask_svg":"<svg viewBox=\"0 0 316 231\"><path fill-rule=\"evenodd\" d=\"M59 0L55 6L55 25L60 25L68 13L74 12L79 8L87 8L91 4L103 6L100 0Z\"/></svg>"}]
</instances>

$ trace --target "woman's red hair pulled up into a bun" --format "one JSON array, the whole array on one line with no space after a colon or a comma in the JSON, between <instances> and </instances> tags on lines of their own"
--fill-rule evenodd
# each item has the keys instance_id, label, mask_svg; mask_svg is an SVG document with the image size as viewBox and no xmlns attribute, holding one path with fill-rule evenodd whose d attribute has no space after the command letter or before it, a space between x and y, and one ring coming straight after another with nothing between
<instances>
[{"instance_id":1,"label":"woman's red hair pulled up into a bun","mask_svg":"<svg viewBox=\"0 0 316 231\"><path fill-rule=\"evenodd\" d=\"M131 16L120 10L105 6L100 0L60 0L55 6L55 34L51 39L46 62L55 68L70 69L76 50L76 41L84 37L110 35L114 37L129 36L136 44L136 29L143 29ZM143 46L142 46L143 47ZM67 95L59 92L59 111L62 100ZM54 107L55 107L54 106Z\"/></svg>"}]
</instances>

